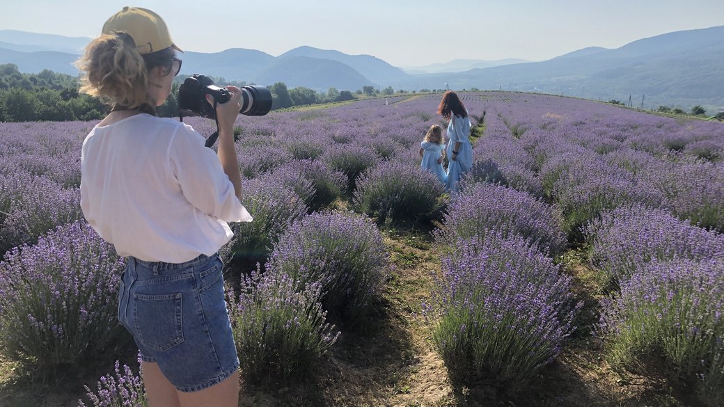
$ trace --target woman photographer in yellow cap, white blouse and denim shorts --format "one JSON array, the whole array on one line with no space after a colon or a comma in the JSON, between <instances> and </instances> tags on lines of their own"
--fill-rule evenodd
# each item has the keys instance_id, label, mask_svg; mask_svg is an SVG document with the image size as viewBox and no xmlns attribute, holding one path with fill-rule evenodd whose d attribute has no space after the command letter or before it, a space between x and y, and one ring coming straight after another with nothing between
<instances>
[{"instance_id":1,"label":"woman photographer in yellow cap, white blouse and denim shorts","mask_svg":"<svg viewBox=\"0 0 724 407\"><path fill-rule=\"evenodd\" d=\"M166 24L124 7L78 66L81 89L114 103L83 142L81 206L127 267L118 316L143 360L149 405L237 406L238 366L217 251L240 203L233 125L241 93L219 104L218 154L193 128L156 116L181 68ZM213 103L213 100L210 100Z\"/></svg>"}]
</instances>

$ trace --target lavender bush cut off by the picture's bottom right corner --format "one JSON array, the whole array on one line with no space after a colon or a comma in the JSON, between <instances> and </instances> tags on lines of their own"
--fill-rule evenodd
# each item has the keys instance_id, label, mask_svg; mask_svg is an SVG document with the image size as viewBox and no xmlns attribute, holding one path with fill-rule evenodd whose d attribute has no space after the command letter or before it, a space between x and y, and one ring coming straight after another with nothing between
<instances>
[{"instance_id":1,"label":"lavender bush cut off by the picture's bottom right corner","mask_svg":"<svg viewBox=\"0 0 724 407\"><path fill-rule=\"evenodd\" d=\"M724 264L654 262L604 304L601 329L609 360L645 372L664 366L670 379L693 382L707 406L724 403ZM663 357L663 364L657 362ZM659 367L657 367L659 369Z\"/></svg>"}]
</instances>

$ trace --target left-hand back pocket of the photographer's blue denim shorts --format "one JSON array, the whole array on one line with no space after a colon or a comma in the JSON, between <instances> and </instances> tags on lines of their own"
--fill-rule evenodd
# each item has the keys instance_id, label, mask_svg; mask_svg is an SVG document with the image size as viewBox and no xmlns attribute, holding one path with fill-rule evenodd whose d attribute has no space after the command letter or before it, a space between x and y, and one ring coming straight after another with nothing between
<instances>
[{"instance_id":1,"label":"left-hand back pocket of the photographer's blue denim shorts","mask_svg":"<svg viewBox=\"0 0 724 407\"><path fill-rule=\"evenodd\" d=\"M143 345L168 351L183 342L181 293L133 295L133 324Z\"/></svg>"}]
</instances>

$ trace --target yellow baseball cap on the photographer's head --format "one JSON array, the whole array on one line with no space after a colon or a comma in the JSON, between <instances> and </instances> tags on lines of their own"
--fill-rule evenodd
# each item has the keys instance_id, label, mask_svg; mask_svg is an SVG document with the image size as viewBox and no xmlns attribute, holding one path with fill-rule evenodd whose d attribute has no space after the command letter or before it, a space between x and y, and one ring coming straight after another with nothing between
<instances>
[{"instance_id":1,"label":"yellow baseball cap on the photographer's head","mask_svg":"<svg viewBox=\"0 0 724 407\"><path fill-rule=\"evenodd\" d=\"M149 9L123 7L106 21L101 33L127 33L140 54L151 54L169 46L181 51L171 39L169 28L161 16Z\"/></svg>"}]
</instances>

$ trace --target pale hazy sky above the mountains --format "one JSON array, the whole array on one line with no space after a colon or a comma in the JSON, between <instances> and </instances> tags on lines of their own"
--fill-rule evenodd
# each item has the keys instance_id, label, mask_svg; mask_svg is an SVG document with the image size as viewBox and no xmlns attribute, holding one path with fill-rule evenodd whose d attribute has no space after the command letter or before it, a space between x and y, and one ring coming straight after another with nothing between
<instances>
[{"instance_id":1,"label":"pale hazy sky above the mountains","mask_svg":"<svg viewBox=\"0 0 724 407\"><path fill-rule=\"evenodd\" d=\"M398 67L452 59L550 59L586 46L724 25L721 0L0 0L0 29L95 37L123 6L161 14L184 50L297 46Z\"/></svg>"}]
</instances>

